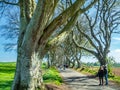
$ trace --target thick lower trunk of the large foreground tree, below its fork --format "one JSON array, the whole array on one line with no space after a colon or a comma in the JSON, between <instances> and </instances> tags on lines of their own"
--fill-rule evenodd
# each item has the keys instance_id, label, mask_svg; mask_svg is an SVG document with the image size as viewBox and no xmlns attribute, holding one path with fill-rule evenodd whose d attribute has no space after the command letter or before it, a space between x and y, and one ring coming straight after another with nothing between
<instances>
[{"instance_id":1,"label":"thick lower trunk of the large foreground tree, below its fork","mask_svg":"<svg viewBox=\"0 0 120 90\"><path fill-rule=\"evenodd\" d=\"M19 57L21 56L21 57ZM12 90L44 90L40 60L37 53L18 55Z\"/></svg>"}]
</instances>

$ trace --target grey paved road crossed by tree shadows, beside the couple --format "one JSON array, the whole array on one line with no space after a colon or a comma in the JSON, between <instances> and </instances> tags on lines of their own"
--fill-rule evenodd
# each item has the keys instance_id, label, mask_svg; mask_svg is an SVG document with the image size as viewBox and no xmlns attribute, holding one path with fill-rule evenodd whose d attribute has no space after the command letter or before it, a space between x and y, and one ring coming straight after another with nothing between
<instances>
[{"instance_id":1,"label":"grey paved road crossed by tree shadows, beside the couple","mask_svg":"<svg viewBox=\"0 0 120 90\"><path fill-rule=\"evenodd\" d=\"M70 90L120 90L120 87L114 86L112 83L108 86L99 86L99 81L95 78L90 78L72 69L59 71Z\"/></svg>"}]
</instances>

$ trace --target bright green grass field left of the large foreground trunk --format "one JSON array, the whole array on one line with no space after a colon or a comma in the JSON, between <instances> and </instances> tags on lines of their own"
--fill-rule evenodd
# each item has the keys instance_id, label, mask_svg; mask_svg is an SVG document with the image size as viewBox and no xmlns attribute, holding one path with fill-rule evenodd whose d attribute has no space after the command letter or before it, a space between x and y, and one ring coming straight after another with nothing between
<instances>
[{"instance_id":1,"label":"bright green grass field left of the large foreground trunk","mask_svg":"<svg viewBox=\"0 0 120 90\"><path fill-rule=\"evenodd\" d=\"M0 90L10 90L16 63L0 63Z\"/></svg>"}]
</instances>

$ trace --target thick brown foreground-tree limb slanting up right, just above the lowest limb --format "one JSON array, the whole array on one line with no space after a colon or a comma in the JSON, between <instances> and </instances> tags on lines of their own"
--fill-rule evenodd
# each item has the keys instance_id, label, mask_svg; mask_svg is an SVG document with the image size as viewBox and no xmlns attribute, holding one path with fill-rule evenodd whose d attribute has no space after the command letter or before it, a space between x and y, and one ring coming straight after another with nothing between
<instances>
[{"instance_id":1,"label":"thick brown foreground-tree limb slanting up right, just above the lowest limb","mask_svg":"<svg viewBox=\"0 0 120 90\"><path fill-rule=\"evenodd\" d=\"M72 6L63 11L58 17L56 17L44 30L45 34L51 35L56 28L64 24L68 18L72 17L79 10L80 6L84 4L84 0L77 0ZM44 34L44 36L46 36Z\"/></svg>"}]
</instances>

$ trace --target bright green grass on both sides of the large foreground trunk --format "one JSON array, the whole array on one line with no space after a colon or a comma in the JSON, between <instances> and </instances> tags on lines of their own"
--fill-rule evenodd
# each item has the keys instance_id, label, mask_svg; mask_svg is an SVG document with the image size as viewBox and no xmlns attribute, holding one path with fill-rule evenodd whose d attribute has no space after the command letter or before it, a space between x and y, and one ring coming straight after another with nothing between
<instances>
[{"instance_id":1,"label":"bright green grass on both sides of the large foreground trunk","mask_svg":"<svg viewBox=\"0 0 120 90\"><path fill-rule=\"evenodd\" d=\"M14 78L15 67L15 62L0 62L0 90L10 90ZM44 64L42 68L44 71L43 79L45 83L61 84L62 79L56 68L52 67L46 69Z\"/></svg>"}]
</instances>

